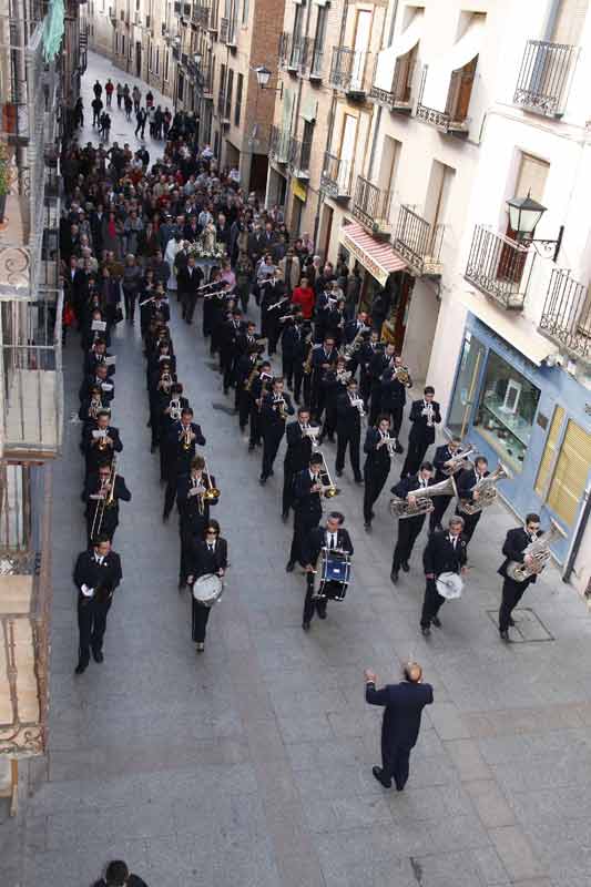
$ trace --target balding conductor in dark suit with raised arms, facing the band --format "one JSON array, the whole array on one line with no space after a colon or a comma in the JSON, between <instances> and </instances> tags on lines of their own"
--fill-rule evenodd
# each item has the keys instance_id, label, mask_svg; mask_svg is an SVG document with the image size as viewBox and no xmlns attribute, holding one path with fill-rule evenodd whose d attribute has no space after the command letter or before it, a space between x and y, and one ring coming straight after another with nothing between
<instances>
[{"instance_id":1,"label":"balding conductor in dark suit with raised arms, facing the band","mask_svg":"<svg viewBox=\"0 0 591 887\"><path fill-rule=\"evenodd\" d=\"M408 779L410 752L417 744L420 717L426 705L434 701L432 686L422 683L422 669L417 662L404 667L404 681L376 689L377 675L365 671L365 700L369 705L385 707L381 722L381 767L371 767L371 773L384 786L391 788L394 782L401 792Z\"/></svg>"}]
</instances>

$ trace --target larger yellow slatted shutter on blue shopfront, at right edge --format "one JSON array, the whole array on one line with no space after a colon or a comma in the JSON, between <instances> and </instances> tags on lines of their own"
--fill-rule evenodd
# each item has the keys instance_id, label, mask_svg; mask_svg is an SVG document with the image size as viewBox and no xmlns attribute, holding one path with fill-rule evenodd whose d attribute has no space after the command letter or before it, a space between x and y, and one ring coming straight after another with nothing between
<instances>
[{"instance_id":1,"label":"larger yellow slatted shutter on blue shopfront, at right edge","mask_svg":"<svg viewBox=\"0 0 591 887\"><path fill-rule=\"evenodd\" d=\"M548 507L567 527L572 527L577 520L590 465L591 435L570 420L547 499Z\"/></svg>"}]
</instances>

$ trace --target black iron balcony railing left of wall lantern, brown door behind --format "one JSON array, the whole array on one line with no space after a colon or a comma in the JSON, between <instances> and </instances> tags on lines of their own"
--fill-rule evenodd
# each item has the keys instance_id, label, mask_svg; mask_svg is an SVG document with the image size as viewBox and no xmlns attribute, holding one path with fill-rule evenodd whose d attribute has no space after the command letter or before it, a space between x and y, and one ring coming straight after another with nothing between
<instances>
[{"instance_id":1,"label":"black iron balcony railing left of wall lantern, brown door behind","mask_svg":"<svg viewBox=\"0 0 591 887\"><path fill-rule=\"evenodd\" d=\"M463 276L503 308L521 310L531 264L526 246L485 225L477 225Z\"/></svg>"}]
</instances>

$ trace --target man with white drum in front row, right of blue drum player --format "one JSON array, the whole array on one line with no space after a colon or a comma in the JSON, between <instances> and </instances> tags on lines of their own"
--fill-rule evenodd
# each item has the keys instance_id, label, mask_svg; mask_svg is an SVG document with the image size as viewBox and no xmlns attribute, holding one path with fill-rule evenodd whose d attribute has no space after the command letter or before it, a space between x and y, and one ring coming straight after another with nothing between
<instances>
[{"instance_id":1,"label":"man with white drum in front row, right of blue drum player","mask_svg":"<svg viewBox=\"0 0 591 887\"><path fill-rule=\"evenodd\" d=\"M420 614L420 629L428 638L431 625L441 628L438 613L446 599L437 591L437 579L441 573L466 572L466 540L462 537L463 520L454 516L449 521L449 530L431 533L427 547L422 552L425 568L425 599Z\"/></svg>"}]
</instances>

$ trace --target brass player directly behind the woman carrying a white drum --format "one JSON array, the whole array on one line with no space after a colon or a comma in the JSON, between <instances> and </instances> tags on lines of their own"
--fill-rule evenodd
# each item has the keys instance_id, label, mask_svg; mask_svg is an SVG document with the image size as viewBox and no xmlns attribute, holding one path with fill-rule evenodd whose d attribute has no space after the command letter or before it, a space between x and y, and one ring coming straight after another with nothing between
<instances>
[{"instance_id":1,"label":"brass player directly behind the woman carrying a white drum","mask_svg":"<svg viewBox=\"0 0 591 887\"><path fill-rule=\"evenodd\" d=\"M176 486L176 504L179 508L179 532L181 536L181 564L179 568L179 589L183 589L188 573L188 551L192 540L203 538L210 521L210 506L217 500L205 497L207 489L215 488L215 478L205 471L205 459L195 456L191 460L188 475L181 475Z\"/></svg>"}]
</instances>

